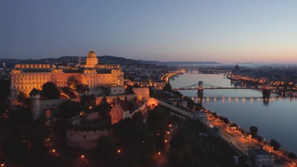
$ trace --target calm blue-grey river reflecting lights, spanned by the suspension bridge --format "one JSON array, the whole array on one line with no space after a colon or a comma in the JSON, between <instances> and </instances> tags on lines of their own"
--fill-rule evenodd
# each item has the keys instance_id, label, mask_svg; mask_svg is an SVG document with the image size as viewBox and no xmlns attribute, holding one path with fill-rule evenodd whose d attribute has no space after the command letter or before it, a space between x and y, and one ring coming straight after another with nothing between
<instances>
[{"instance_id":1,"label":"calm blue-grey river reflecting lights, spanned by the suspension bridge","mask_svg":"<svg viewBox=\"0 0 297 167\"><path fill-rule=\"evenodd\" d=\"M219 74L185 73L174 81L170 80L170 84L172 88L177 88L193 85L198 81L214 86L234 87L229 79ZM198 101L197 90L180 92ZM262 91L259 90L216 89L204 90L201 103L205 108L227 117L246 130L250 126L257 126L258 134L266 141L276 139L282 148L297 153L297 99L279 97L272 93L269 101L264 102Z\"/></svg>"}]
</instances>

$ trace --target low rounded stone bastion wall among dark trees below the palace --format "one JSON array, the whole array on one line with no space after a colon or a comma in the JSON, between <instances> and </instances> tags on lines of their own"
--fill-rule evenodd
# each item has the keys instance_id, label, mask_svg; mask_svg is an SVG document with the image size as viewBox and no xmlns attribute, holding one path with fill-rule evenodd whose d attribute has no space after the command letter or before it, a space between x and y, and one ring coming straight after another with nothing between
<instances>
[{"instance_id":1,"label":"low rounded stone bastion wall among dark trees below the palace","mask_svg":"<svg viewBox=\"0 0 297 167\"><path fill-rule=\"evenodd\" d=\"M103 130L76 130L66 128L65 142L68 146L82 149L94 149L101 136L110 136L112 129Z\"/></svg>"}]
</instances>

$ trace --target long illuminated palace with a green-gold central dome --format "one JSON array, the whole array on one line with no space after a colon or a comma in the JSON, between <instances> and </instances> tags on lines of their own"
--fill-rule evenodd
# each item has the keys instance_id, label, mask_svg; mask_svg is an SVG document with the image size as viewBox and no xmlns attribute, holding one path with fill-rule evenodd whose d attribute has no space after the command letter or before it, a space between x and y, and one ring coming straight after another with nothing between
<instances>
[{"instance_id":1,"label":"long illuminated palace with a green-gold central dome","mask_svg":"<svg viewBox=\"0 0 297 167\"><path fill-rule=\"evenodd\" d=\"M33 88L41 90L42 85L47 82L64 87L71 76L89 87L108 84L124 86L121 66L98 64L97 55L91 50L87 54L86 64L78 64L76 67L57 68L54 64L47 63L15 65L11 71L11 96L18 96L21 91L29 94Z\"/></svg>"}]
</instances>

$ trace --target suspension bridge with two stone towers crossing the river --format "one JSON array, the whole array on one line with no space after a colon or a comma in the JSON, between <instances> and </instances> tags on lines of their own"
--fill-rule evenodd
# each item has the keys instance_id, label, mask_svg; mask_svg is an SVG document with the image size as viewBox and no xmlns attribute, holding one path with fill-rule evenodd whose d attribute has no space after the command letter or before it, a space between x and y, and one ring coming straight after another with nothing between
<instances>
[{"instance_id":1,"label":"suspension bridge with two stone towers crossing the river","mask_svg":"<svg viewBox=\"0 0 297 167\"><path fill-rule=\"evenodd\" d=\"M177 87L172 88L173 90L198 90L197 94L198 97L203 97L203 90L204 89L256 89L256 90L263 90L263 97L269 98L270 97L270 90L278 90L276 88L270 86L235 86L235 87L225 87L225 86L214 86L209 84L203 84L203 81L199 81L198 84L193 84L185 87Z\"/></svg>"}]
</instances>

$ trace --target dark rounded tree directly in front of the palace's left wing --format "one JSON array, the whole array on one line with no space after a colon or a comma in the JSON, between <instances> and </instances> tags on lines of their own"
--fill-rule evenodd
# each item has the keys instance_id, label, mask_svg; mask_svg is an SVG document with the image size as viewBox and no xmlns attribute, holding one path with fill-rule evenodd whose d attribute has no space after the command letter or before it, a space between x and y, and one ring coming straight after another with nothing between
<instances>
[{"instance_id":1,"label":"dark rounded tree directly in front of the palace's left wing","mask_svg":"<svg viewBox=\"0 0 297 167\"><path fill-rule=\"evenodd\" d=\"M57 88L56 84L47 82L42 85L42 97L47 99L59 99L60 91Z\"/></svg>"}]
</instances>

